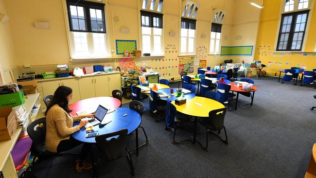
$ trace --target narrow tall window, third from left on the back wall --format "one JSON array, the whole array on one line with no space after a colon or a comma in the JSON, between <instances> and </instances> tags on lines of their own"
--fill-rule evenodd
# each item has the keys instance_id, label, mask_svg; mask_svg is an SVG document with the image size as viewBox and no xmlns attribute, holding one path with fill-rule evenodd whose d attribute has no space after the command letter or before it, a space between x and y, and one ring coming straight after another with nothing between
<instances>
[{"instance_id":1,"label":"narrow tall window, third from left on the back wall","mask_svg":"<svg viewBox=\"0 0 316 178\"><path fill-rule=\"evenodd\" d=\"M194 53L195 19L181 18L181 53Z\"/></svg>"}]
</instances>

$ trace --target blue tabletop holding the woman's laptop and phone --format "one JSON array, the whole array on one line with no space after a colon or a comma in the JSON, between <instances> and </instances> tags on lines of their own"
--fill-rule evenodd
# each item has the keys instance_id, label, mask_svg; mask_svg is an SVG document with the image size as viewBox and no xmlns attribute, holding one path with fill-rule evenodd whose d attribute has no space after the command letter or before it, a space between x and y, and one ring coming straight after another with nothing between
<instances>
[{"instance_id":1,"label":"blue tabletop holding the woman's laptop and phone","mask_svg":"<svg viewBox=\"0 0 316 178\"><path fill-rule=\"evenodd\" d=\"M127 114L127 116L123 116L123 114ZM140 114L132 109L118 107L115 109L114 112L106 114L105 118L102 121L102 124L108 123L109 124L99 128L99 125L94 125L93 130L99 131L99 135L115 132L122 130L124 128L128 129L128 133L132 133L141 123ZM79 122L73 123L73 126L79 125ZM82 127L79 131L72 134L72 137L81 142L91 142L95 143L95 137L86 138L86 128Z\"/></svg>"}]
</instances>

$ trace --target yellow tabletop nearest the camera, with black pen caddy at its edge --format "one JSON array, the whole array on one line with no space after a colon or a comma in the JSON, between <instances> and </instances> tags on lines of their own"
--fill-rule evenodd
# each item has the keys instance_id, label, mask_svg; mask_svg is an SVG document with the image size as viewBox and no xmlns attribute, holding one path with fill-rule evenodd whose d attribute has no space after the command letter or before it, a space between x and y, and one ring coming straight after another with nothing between
<instances>
[{"instance_id":1,"label":"yellow tabletop nearest the camera, with black pen caddy at its edge","mask_svg":"<svg viewBox=\"0 0 316 178\"><path fill-rule=\"evenodd\" d=\"M218 101L200 96L195 96L194 98L187 100L187 103L181 106L176 105L175 101L172 101L171 103L176 107L177 111L196 117L209 117L209 112L211 110L225 107ZM202 106L198 106L195 103L199 103Z\"/></svg>"}]
</instances>

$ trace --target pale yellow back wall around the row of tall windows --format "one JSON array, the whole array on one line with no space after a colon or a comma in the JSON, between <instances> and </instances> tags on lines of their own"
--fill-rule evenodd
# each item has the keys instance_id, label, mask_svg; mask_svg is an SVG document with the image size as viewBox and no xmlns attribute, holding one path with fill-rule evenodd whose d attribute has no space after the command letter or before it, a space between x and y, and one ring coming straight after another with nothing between
<instances>
[{"instance_id":1,"label":"pale yellow back wall around the row of tall windows","mask_svg":"<svg viewBox=\"0 0 316 178\"><path fill-rule=\"evenodd\" d=\"M3 0L2 0L3 1ZM10 28L13 43L16 48L17 64L30 64L34 68L23 69L21 71L38 71L43 69L54 69L55 64L70 63L70 54L67 40L67 28L65 25L63 0L4 0L6 10L11 16ZM222 45L254 45L256 40L256 29L248 33L246 30L254 28L255 25L247 24L245 18L249 14L239 13L236 5L243 11L250 10L251 17L259 19L259 11L253 9L248 2L243 0L195 0L201 4L197 14L196 25L196 44L195 47L206 47L209 52L210 30L212 10L214 8L224 9L226 15L222 30ZM176 45L176 51L179 51L179 34L180 34L180 15L182 0L165 0L163 3L163 34L164 34L164 51L168 44ZM18 5L17 5L18 4ZM111 50L115 53L115 39L133 39L137 40L137 48L140 47L140 21L139 6L140 0L108 0L107 3L107 29L109 35L109 44ZM235 16L234 13L239 13ZM242 17L242 18L240 18ZM113 18L118 19L114 21ZM50 30L35 29L34 21L48 21ZM254 21L251 19L250 21ZM244 25L245 24L245 25ZM128 34L122 34L122 27L129 28ZM176 36L169 36L169 32L176 32ZM239 32L237 32L239 31ZM235 42L236 35L242 34L244 42ZM206 35L201 38L201 35ZM248 40L249 39L249 40ZM163 77L178 77L178 69L172 67L178 66L179 53L165 53L163 63L159 63L159 58L136 58L136 62L147 62L149 66L162 73ZM220 55L207 55L207 66L213 67L222 63L225 59L234 58L234 62L241 62L241 57L223 57ZM250 57L251 60L253 57ZM158 62L156 62L156 59ZM171 59L169 61L169 59ZM172 60L174 59L174 60ZM236 59L236 60L235 60ZM166 61L167 60L167 61ZM115 65L118 65L119 59L116 59ZM100 62L98 62L100 63ZM105 62L102 62L105 64ZM90 63L94 64L94 63ZM107 63L112 65L113 62ZM47 67L47 65L51 65ZM72 66L76 64L72 63ZM82 66L82 64L78 65ZM169 66L171 68L169 68ZM36 67L36 69L35 69ZM159 67L161 69L159 69ZM164 69L162 69L164 67ZM165 69L167 67L167 69ZM194 66L194 72L196 68ZM44 70L43 70L44 71ZM170 73L170 76L169 76ZM17 73L16 73L17 75Z\"/></svg>"}]
</instances>

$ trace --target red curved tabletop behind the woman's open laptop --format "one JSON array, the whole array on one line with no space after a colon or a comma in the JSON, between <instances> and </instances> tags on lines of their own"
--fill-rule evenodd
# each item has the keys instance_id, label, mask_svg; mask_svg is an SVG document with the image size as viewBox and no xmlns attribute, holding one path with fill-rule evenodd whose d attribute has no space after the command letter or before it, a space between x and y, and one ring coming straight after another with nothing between
<instances>
[{"instance_id":1,"label":"red curved tabletop behind the woman's open laptop","mask_svg":"<svg viewBox=\"0 0 316 178\"><path fill-rule=\"evenodd\" d=\"M113 97L95 97L77 101L69 106L72 110L71 115L76 116L76 112L87 108L95 107L99 105L104 106L107 109L116 109L120 107L121 101Z\"/></svg>"}]
</instances>

